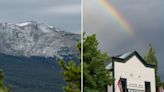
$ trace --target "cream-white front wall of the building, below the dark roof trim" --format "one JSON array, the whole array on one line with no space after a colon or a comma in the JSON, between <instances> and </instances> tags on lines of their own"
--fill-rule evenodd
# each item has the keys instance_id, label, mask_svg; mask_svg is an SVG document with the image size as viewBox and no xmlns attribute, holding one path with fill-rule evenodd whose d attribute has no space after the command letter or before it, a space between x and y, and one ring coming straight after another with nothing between
<instances>
[{"instance_id":1,"label":"cream-white front wall of the building, below the dark roof trim","mask_svg":"<svg viewBox=\"0 0 164 92\"><path fill-rule=\"evenodd\" d=\"M145 90L145 81L148 81L151 82L151 92L156 92L155 70L145 67L136 56L133 56L125 63L114 62L114 72L115 92L119 92L117 83L120 77L127 79L128 89Z\"/></svg>"}]
</instances>

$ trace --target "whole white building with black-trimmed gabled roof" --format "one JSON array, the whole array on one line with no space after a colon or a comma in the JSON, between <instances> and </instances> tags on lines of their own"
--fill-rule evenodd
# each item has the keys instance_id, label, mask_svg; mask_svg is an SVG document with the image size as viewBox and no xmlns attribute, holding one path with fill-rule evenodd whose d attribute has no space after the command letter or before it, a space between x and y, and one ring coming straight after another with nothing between
<instances>
[{"instance_id":1,"label":"whole white building with black-trimmed gabled roof","mask_svg":"<svg viewBox=\"0 0 164 92\"><path fill-rule=\"evenodd\" d=\"M154 68L136 51L112 57L106 69L112 71L115 80L107 91L120 92L118 81L121 80L123 92L156 92Z\"/></svg>"}]
</instances>

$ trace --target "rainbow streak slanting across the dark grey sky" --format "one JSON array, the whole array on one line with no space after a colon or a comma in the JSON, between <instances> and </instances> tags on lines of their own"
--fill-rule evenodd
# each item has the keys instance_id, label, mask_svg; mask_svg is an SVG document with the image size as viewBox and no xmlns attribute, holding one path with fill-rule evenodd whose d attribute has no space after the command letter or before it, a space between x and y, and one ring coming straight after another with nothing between
<instances>
[{"instance_id":1,"label":"rainbow streak slanting across the dark grey sky","mask_svg":"<svg viewBox=\"0 0 164 92\"><path fill-rule=\"evenodd\" d=\"M105 9L107 9L107 11L110 12L110 14L118 21L124 30L130 34L133 34L131 26L108 0L100 0L100 2L105 7Z\"/></svg>"}]
</instances>

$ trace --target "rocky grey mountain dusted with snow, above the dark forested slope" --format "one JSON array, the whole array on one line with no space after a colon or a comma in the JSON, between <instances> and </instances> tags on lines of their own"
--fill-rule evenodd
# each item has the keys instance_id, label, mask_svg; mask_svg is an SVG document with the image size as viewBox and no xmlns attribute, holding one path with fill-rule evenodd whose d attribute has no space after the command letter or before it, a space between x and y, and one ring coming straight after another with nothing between
<instances>
[{"instance_id":1,"label":"rocky grey mountain dusted with snow, above the dark forested slope","mask_svg":"<svg viewBox=\"0 0 164 92\"><path fill-rule=\"evenodd\" d=\"M77 54L80 34L60 31L35 21L0 23L0 53L15 56L59 57Z\"/></svg>"}]
</instances>

